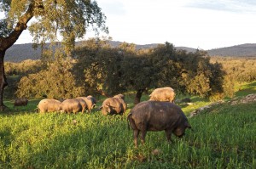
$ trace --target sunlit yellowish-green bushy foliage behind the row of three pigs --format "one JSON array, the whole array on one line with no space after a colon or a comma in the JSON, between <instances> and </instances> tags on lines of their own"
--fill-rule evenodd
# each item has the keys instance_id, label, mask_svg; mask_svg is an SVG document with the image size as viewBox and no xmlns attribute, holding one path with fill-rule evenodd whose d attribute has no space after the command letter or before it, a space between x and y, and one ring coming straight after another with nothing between
<instances>
[{"instance_id":1,"label":"sunlit yellowish-green bushy foliage behind the row of three pigs","mask_svg":"<svg viewBox=\"0 0 256 169\"><path fill-rule=\"evenodd\" d=\"M76 81L71 72L73 68L72 59L61 59L56 55L55 62L49 63L46 70L37 74L23 76L18 84L16 92L18 97L51 99L68 99L80 96L82 87L76 86Z\"/></svg>"}]
</instances>

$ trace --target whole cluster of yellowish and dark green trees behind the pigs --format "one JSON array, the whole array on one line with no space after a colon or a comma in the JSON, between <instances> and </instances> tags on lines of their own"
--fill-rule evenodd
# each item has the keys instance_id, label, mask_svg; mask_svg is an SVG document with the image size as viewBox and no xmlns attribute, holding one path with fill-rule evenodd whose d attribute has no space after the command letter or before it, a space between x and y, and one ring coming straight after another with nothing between
<instances>
[{"instance_id":1,"label":"whole cluster of yellowish and dark green trees behind the pigs","mask_svg":"<svg viewBox=\"0 0 256 169\"><path fill-rule=\"evenodd\" d=\"M209 98L224 93L224 71L205 55L177 50L169 42L136 50L135 44L111 48L108 41L90 39L73 51L72 58L55 53L45 70L22 77L17 95L70 98L133 91L137 104L148 89L170 86L177 93Z\"/></svg>"}]
</instances>

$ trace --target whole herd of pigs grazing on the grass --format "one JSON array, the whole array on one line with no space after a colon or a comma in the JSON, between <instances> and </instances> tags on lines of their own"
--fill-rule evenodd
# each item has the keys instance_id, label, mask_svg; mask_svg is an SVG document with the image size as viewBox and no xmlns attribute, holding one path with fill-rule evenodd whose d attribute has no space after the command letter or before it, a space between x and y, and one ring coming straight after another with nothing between
<instances>
[{"instance_id":1,"label":"whole herd of pigs grazing on the grass","mask_svg":"<svg viewBox=\"0 0 256 169\"><path fill-rule=\"evenodd\" d=\"M129 126L133 130L134 144L137 147L137 138L141 132L141 142L145 143L147 131L166 131L166 138L171 142L172 133L182 138L186 128L191 128L189 121L179 106L174 104L175 92L172 87L156 88L148 101L136 104L127 115ZM16 99L15 106L26 105L27 99ZM78 113L91 112L96 106L94 97L79 97L60 101L57 99L42 99L38 104L40 113L62 112ZM99 110L102 115L123 115L127 109L125 97L118 94L105 99Z\"/></svg>"}]
</instances>

